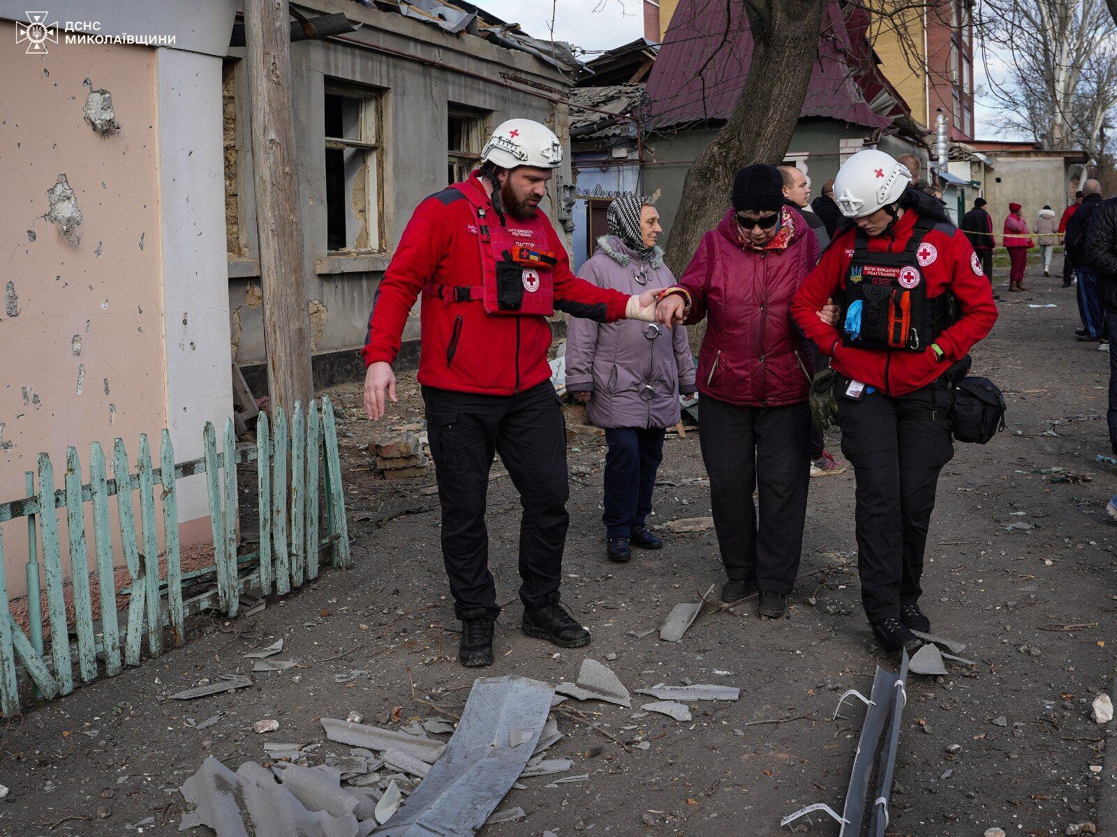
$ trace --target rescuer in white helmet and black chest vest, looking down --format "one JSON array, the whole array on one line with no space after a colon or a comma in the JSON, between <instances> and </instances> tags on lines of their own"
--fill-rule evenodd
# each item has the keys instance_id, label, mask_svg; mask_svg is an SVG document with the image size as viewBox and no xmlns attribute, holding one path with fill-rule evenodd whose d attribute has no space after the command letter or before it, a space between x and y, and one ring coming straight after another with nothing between
<instances>
[{"instance_id":1,"label":"rescuer in white helmet and black chest vest, looking down","mask_svg":"<svg viewBox=\"0 0 1117 837\"><path fill-rule=\"evenodd\" d=\"M944 374L993 327L996 305L966 237L908 187L888 154L862 151L834 181L853 219L795 295L803 333L831 356L842 452L857 473L861 600L888 651L911 653L938 473L954 455ZM818 316L839 302L837 327Z\"/></svg>"}]
</instances>

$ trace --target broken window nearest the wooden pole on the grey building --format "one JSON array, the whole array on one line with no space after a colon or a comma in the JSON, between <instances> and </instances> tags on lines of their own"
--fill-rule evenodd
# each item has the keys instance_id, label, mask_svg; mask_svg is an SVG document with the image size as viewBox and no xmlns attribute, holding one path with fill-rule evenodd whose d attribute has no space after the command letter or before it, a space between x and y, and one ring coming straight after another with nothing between
<instances>
[{"instance_id":1,"label":"broken window nearest the wooden pole on the grey building","mask_svg":"<svg viewBox=\"0 0 1117 837\"><path fill-rule=\"evenodd\" d=\"M326 87L326 249L383 250L381 95Z\"/></svg>"}]
</instances>

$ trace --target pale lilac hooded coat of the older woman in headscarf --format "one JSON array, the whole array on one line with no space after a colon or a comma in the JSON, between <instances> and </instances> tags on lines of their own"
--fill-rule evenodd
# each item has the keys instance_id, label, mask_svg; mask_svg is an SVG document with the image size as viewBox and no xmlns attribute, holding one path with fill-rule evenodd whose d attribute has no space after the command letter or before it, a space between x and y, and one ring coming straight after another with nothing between
<instances>
[{"instance_id":1,"label":"pale lilac hooded coat of the older woman in headscarf","mask_svg":"<svg viewBox=\"0 0 1117 837\"><path fill-rule=\"evenodd\" d=\"M615 235L598 239L596 250L577 275L599 288L632 296L675 285L660 248L642 261ZM585 417L599 427L678 424L679 394L695 391L687 329L572 318L566 326L566 391L592 393Z\"/></svg>"}]
</instances>

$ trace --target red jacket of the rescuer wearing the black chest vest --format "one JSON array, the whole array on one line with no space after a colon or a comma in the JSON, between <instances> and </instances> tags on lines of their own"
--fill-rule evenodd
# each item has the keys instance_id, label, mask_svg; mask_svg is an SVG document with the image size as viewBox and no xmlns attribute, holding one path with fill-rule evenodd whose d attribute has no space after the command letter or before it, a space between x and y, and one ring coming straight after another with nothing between
<instances>
[{"instance_id":1,"label":"red jacket of the rescuer wearing the black chest vest","mask_svg":"<svg viewBox=\"0 0 1117 837\"><path fill-rule=\"evenodd\" d=\"M904 250L917 217L914 209L908 209L892 225L891 233L869 239L869 251ZM820 320L815 311L821 310L827 299L841 297L853 256L855 232L856 228L850 228L830 243L795 295L791 312L803 333L823 354L830 355L830 365L840 375L875 386L887 395L906 395L927 386L989 334L996 321L993 289L966 237L960 230L946 232L936 227L924 238L937 251L934 261L922 266L927 295L935 297L951 290L962 310L958 321L935 340L943 349L942 360L930 346L924 352L850 348L842 343L838 329Z\"/></svg>"}]
</instances>

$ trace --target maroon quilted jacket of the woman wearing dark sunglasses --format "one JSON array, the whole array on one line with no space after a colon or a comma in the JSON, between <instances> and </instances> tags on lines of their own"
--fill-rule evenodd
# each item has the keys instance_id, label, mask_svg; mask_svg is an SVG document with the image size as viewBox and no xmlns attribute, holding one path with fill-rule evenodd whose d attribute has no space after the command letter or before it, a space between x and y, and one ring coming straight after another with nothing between
<instances>
[{"instance_id":1,"label":"maroon quilted jacket of the woman wearing dark sunglasses","mask_svg":"<svg viewBox=\"0 0 1117 837\"><path fill-rule=\"evenodd\" d=\"M739 243L729 210L678 282L690 291L687 323L707 319L698 353L703 395L744 407L806 401L811 353L791 319L791 299L819 259L819 241L795 209L784 212L787 247L758 251Z\"/></svg>"}]
</instances>

